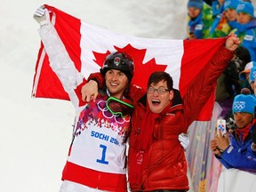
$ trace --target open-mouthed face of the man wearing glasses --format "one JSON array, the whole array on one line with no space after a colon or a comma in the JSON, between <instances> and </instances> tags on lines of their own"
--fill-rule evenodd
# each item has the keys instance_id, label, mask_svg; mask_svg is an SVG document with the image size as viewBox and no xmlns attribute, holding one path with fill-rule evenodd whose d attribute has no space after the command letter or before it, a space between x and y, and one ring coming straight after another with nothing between
<instances>
[{"instance_id":1,"label":"open-mouthed face of the man wearing glasses","mask_svg":"<svg viewBox=\"0 0 256 192\"><path fill-rule=\"evenodd\" d=\"M148 107L153 113L161 113L170 104L172 98L173 91L169 91L166 81L162 80L148 86Z\"/></svg>"}]
</instances>

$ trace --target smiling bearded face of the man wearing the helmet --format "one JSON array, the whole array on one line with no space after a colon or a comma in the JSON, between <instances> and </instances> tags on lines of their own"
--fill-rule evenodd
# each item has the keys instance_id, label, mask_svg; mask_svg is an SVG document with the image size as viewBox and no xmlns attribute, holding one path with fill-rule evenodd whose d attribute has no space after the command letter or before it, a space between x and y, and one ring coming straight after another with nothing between
<instances>
[{"instance_id":1,"label":"smiling bearded face of the man wearing the helmet","mask_svg":"<svg viewBox=\"0 0 256 192\"><path fill-rule=\"evenodd\" d=\"M105 82L111 96L121 99L129 80L122 71L109 69L105 74Z\"/></svg>"}]
</instances>

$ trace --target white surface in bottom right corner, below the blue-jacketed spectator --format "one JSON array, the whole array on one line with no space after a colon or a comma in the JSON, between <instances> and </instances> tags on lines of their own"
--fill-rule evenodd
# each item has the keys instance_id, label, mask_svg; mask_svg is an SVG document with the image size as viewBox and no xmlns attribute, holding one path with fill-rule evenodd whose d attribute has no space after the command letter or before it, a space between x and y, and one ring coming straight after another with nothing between
<instances>
[{"instance_id":1,"label":"white surface in bottom right corner, below the blue-jacketed spectator","mask_svg":"<svg viewBox=\"0 0 256 192\"><path fill-rule=\"evenodd\" d=\"M256 191L256 174L237 169L223 169L220 173L218 192Z\"/></svg>"}]
</instances>

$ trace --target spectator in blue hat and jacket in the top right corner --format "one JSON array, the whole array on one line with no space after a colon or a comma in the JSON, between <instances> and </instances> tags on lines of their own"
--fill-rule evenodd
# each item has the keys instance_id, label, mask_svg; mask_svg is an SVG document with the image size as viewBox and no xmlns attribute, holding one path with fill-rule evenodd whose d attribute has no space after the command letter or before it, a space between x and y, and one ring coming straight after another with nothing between
<instances>
[{"instance_id":1,"label":"spectator in blue hat and jacket in the top right corner","mask_svg":"<svg viewBox=\"0 0 256 192\"><path fill-rule=\"evenodd\" d=\"M256 61L256 20L254 18L254 7L249 2L239 1L236 8L237 25L234 32L242 41L251 55L251 60Z\"/></svg>"}]
</instances>

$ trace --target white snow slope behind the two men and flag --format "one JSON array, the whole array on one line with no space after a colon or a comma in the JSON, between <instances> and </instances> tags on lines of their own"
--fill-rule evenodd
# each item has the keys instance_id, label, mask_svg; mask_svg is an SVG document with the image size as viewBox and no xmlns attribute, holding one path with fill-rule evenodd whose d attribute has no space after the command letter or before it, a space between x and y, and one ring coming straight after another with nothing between
<instances>
[{"instance_id":1,"label":"white snow slope behind the two men and flag","mask_svg":"<svg viewBox=\"0 0 256 192\"><path fill-rule=\"evenodd\" d=\"M185 36L187 0L0 0L0 191L59 191L75 111L32 99L40 46L36 8L50 4L101 28L141 37Z\"/></svg>"}]
</instances>

